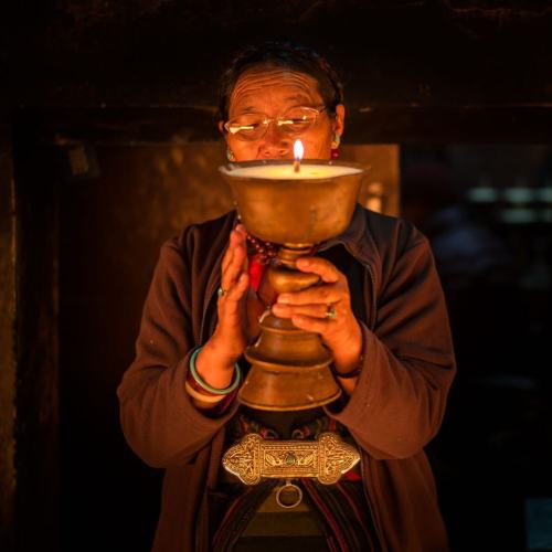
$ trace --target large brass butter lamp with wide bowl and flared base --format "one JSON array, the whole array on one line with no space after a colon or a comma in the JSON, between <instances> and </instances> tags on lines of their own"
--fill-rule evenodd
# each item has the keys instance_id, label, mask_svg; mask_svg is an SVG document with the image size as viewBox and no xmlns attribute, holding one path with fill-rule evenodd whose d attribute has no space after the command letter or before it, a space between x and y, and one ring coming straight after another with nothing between
<instances>
[{"instance_id":1,"label":"large brass butter lamp with wide bowl and flared base","mask_svg":"<svg viewBox=\"0 0 552 552\"><path fill-rule=\"evenodd\" d=\"M317 285L296 261L339 235L351 221L364 168L327 160L263 160L220 167L242 223L253 235L280 244L266 277L277 294ZM238 400L253 408L300 411L341 394L331 374L332 355L320 336L266 311L258 339L245 350L252 364Z\"/></svg>"}]
</instances>

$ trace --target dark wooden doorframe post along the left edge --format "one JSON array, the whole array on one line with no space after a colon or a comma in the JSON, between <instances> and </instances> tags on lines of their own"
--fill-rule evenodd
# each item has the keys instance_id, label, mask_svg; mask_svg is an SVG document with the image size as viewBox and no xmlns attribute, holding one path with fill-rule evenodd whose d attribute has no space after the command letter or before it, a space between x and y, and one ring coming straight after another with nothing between
<instances>
[{"instance_id":1,"label":"dark wooden doorframe post along the left edge","mask_svg":"<svg viewBox=\"0 0 552 552\"><path fill-rule=\"evenodd\" d=\"M15 552L60 550L57 185L36 128L0 126L0 549Z\"/></svg>"}]
</instances>

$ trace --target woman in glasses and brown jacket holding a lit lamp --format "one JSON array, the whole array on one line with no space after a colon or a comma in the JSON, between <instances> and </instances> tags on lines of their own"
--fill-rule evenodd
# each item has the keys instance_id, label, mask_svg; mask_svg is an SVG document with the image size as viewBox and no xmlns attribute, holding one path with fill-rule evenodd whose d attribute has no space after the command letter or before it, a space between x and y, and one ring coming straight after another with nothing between
<instances>
[{"instance_id":1,"label":"woman in glasses and brown jacket holding a lit lamp","mask_svg":"<svg viewBox=\"0 0 552 552\"><path fill-rule=\"evenodd\" d=\"M341 85L314 52L247 49L223 75L220 129L231 161L291 159L298 136L306 158L329 159L343 128ZM118 389L129 445L166 469L153 550L445 551L423 448L440 425L455 363L427 241L357 205L342 235L298 262L321 285L274 302L262 277L274 246L237 222L231 212L162 246ZM242 354L266 308L321 336L344 399L300 413L240 406ZM274 481L244 488L221 468L246 433L308 439L321 429L355 444L360 469L330 486L301 480L296 512L270 502Z\"/></svg>"}]
</instances>

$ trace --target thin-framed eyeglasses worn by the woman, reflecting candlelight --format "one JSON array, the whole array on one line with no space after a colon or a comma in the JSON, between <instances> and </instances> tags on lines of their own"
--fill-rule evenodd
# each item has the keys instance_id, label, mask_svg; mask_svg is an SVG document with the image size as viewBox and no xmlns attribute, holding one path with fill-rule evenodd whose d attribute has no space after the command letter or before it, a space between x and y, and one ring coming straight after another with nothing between
<instances>
[{"instance_id":1,"label":"thin-framed eyeglasses worn by the woman, reflecting candlelight","mask_svg":"<svg viewBox=\"0 0 552 552\"><path fill-rule=\"evenodd\" d=\"M224 124L224 129L238 140L259 140L268 130L273 121L288 136L297 136L308 130L318 118L326 106L317 109L315 107L291 107L284 115L267 117L263 113L247 113Z\"/></svg>"}]
</instances>

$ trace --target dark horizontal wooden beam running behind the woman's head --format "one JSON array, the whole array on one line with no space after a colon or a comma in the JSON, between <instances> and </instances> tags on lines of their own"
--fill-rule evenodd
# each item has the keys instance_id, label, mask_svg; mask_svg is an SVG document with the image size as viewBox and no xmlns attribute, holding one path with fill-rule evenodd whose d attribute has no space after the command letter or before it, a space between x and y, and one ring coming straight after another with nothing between
<instances>
[{"instance_id":1,"label":"dark horizontal wooden beam running behind the woman's head","mask_svg":"<svg viewBox=\"0 0 552 552\"><path fill-rule=\"evenodd\" d=\"M71 146L222 140L212 110L195 107L45 109L33 114L40 139ZM344 144L550 144L552 104L348 106Z\"/></svg>"}]
</instances>

